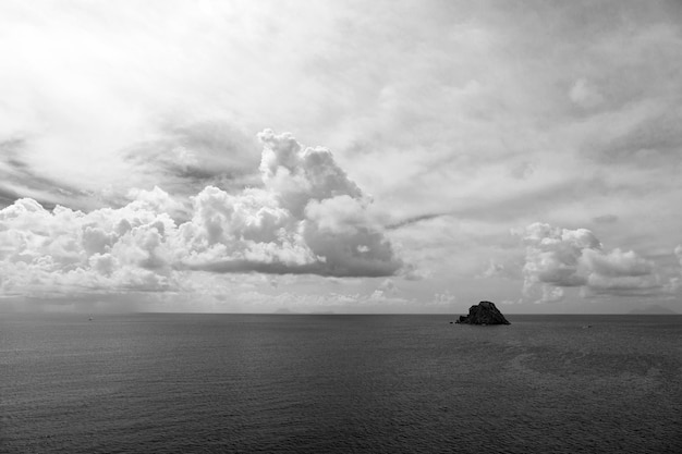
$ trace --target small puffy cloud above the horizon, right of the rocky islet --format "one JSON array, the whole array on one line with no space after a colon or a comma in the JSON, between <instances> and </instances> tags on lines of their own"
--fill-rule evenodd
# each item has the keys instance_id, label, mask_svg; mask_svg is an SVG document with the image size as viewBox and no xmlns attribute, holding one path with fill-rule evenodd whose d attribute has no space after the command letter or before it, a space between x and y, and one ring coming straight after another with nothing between
<instances>
[{"instance_id":1,"label":"small puffy cloud above the horizon, right of the rocky islet","mask_svg":"<svg viewBox=\"0 0 682 454\"><path fill-rule=\"evenodd\" d=\"M524 294L539 289L538 302L559 302L564 287L585 295L642 295L661 289L654 265L636 253L604 250L587 229L560 229L533 223L525 229Z\"/></svg>"}]
</instances>

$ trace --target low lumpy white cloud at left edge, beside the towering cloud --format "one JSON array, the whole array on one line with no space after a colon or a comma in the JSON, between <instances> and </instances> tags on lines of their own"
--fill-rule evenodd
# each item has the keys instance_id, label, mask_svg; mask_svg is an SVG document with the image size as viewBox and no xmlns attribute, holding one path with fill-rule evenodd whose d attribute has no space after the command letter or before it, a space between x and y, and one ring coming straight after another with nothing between
<instances>
[{"instance_id":1,"label":"low lumpy white cloud at left edge, beside the towering cloud","mask_svg":"<svg viewBox=\"0 0 682 454\"><path fill-rule=\"evenodd\" d=\"M166 213L132 203L90 213L20 199L0 210L2 294L172 286Z\"/></svg>"}]
</instances>

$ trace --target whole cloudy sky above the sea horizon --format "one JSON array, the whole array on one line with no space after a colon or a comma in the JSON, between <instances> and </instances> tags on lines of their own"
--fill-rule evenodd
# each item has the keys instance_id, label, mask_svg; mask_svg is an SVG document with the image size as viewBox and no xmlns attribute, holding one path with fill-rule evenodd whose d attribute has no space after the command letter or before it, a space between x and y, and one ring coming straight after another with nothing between
<instances>
[{"instance_id":1,"label":"whole cloudy sky above the sea horizon","mask_svg":"<svg viewBox=\"0 0 682 454\"><path fill-rule=\"evenodd\" d=\"M0 2L0 311L682 312L679 1Z\"/></svg>"}]
</instances>

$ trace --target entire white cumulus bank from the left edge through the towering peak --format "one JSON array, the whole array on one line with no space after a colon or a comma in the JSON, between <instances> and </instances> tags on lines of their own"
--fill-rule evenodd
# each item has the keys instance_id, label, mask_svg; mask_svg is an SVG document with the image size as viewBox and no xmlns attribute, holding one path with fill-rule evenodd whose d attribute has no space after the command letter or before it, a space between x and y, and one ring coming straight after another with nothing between
<instances>
[{"instance_id":1,"label":"entire white cumulus bank from the left edge through the towering peak","mask_svg":"<svg viewBox=\"0 0 682 454\"><path fill-rule=\"evenodd\" d=\"M41 289L163 291L192 270L392 275L402 267L370 200L325 148L260 134L263 187L215 186L182 204L159 187L132 189L122 208L45 209L24 198L0 210L3 294Z\"/></svg>"}]
</instances>

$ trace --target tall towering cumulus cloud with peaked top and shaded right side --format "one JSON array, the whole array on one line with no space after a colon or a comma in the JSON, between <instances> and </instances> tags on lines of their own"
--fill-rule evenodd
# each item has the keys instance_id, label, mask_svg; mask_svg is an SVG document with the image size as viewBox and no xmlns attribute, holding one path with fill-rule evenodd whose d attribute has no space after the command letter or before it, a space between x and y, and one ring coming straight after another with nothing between
<instances>
[{"instance_id":1,"label":"tall towering cumulus cloud with peaked top and shaded right side","mask_svg":"<svg viewBox=\"0 0 682 454\"><path fill-rule=\"evenodd\" d=\"M229 195L207 187L180 230L194 245L192 268L322 275L390 275L402 266L370 203L325 148L266 130L265 188Z\"/></svg>"}]
</instances>

